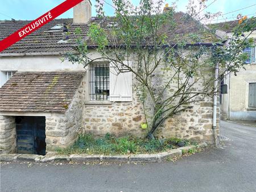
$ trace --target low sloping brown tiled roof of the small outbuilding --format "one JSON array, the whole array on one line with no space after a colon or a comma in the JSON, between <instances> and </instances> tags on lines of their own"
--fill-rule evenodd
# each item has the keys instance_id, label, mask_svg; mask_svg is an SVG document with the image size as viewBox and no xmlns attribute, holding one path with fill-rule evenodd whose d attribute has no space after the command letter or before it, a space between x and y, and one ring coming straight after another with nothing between
<instances>
[{"instance_id":1,"label":"low sloping brown tiled roof of the small outbuilding","mask_svg":"<svg viewBox=\"0 0 256 192\"><path fill-rule=\"evenodd\" d=\"M84 72L16 72L0 88L0 111L65 112Z\"/></svg>"}]
</instances>

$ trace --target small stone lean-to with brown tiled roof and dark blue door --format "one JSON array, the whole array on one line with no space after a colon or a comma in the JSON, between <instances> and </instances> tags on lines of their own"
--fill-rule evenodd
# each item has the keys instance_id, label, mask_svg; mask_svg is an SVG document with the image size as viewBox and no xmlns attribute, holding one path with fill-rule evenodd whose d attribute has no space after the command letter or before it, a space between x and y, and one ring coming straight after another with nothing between
<instances>
[{"instance_id":1,"label":"small stone lean-to with brown tiled roof and dark blue door","mask_svg":"<svg viewBox=\"0 0 256 192\"><path fill-rule=\"evenodd\" d=\"M84 72L17 72L0 88L1 152L45 155L77 138Z\"/></svg>"}]
</instances>

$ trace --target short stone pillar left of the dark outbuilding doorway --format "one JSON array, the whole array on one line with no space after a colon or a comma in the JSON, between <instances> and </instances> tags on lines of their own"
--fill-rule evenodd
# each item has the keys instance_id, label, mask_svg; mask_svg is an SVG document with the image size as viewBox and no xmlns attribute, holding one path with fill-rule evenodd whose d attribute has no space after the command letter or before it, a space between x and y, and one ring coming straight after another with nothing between
<instances>
[{"instance_id":1,"label":"short stone pillar left of the dark outbuilding doorway","mask_svg":"<svg viewBox=\"0 0 256 192\"><path fill-rule=\"evenodd\" d=\"M13 116L0 115L0 153L16 152L16 129Z\"/></svg>"}]
</instances>

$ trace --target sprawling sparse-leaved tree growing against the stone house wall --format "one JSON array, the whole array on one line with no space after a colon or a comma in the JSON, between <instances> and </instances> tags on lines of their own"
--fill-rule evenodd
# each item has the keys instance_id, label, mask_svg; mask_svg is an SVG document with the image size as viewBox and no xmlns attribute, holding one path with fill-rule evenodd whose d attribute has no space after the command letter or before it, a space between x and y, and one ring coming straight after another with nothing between
<instances>
[{"instance_id":1,"label":"sprawling sparse-leaved tree growing against the stone house wall","mask_svg":"<svg viewBox=\"0 0 256 192\"><path fill-rule=\"evenodd\" d=\"M200 23L216 14L202 14L207 9L205 1L197 2L189 1L184 14L175 12L175 5L163 12L163 1L141 0L135 7L130 1L113 0L114 17L104 16L104 3L98 2L101 23L90 24L89 39L77 29L80 37L75 51L79 54L65 57L84 66L106 60L113 73L132 72L151 139L166 119L204 101L205 96L212 97L214 81L218 81L214 66L220 65L218 77L237 72L247 57L242 50L252 43L245 32L255 29L255 18L242 18L233 37L224 41L215 34L216 28L210 30ZM89 48L100 56L92 58Z\"/></svg>"}]
</instances>

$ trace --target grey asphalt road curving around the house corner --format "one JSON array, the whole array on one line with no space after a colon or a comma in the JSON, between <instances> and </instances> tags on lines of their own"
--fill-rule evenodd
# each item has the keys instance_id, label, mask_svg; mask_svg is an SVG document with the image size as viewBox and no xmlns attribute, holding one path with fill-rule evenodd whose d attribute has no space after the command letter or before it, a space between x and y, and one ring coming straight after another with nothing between
<instances>
[{"instance_id":1,"label":"grey asphalt road curving around the house corner","mask_svg":"<svg viewBox=\"0 0 256 192\"><path fill-rule=\"evenodd\" d=\"M221 126L224 147L177 162L2 164L1 191L256 191L256 128Z\"/></svg>"}]
</instances>

